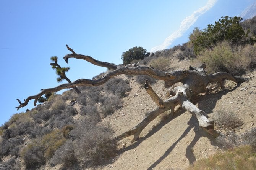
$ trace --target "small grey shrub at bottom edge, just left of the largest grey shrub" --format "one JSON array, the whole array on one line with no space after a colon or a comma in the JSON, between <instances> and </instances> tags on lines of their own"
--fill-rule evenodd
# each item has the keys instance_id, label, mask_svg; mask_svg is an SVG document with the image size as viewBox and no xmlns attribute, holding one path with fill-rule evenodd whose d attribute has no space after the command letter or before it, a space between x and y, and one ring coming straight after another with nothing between
<instances>
[{"instance_id":1,"label":"small grey shrub at bottom edge, just left of the largest grey shrub","mask_svg":"<svg viewBox=\"0 0 256 170\"><path fill-rule=\"evenodd\" d=\"M71 168L76 165L78 163L78 157L75 152L73 141L68 140L64 145L57 149L50 162L52 165L63 164L63 168Z\"/></svg>"}]
</instances>

